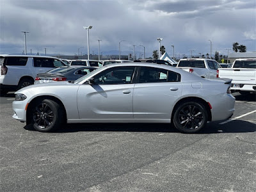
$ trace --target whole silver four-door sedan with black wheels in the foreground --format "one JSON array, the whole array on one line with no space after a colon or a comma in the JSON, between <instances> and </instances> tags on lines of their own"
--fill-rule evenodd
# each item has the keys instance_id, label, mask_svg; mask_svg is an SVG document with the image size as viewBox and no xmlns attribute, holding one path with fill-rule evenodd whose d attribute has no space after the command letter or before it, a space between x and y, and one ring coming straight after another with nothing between
<instances>
[{"instance_id":1,"label":"whole silver four-door sedan with black wheels in the foreground","mask_svg":"<svg viewBox=\"0 0 256 192\"><path fill-rule=\"evenodd\" d=\"M15 92L13 118L48 132L70 123L167 123L195 133L234 113L231 79L203 79L152 63L111 64L76 81Z\"/></svg>"}]
</instances>

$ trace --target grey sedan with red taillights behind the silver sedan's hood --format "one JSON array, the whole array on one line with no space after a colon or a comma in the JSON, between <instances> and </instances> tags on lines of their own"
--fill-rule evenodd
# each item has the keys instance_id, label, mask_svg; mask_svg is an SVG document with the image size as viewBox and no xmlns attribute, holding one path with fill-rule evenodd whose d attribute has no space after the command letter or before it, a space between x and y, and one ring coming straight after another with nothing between
<instances>
[{"instance_id":1,"label":"grey sedan with red taillights behind the silver sedan's hood","mask_svg":"<svg viewBox=\"0 0 256 192\"><path fill-rule=\"evenodd\" d=\"M83 77L97 67L84 67L84 66L70 66L70 67L58 67L44 74L37 74L35 78L35 84L39 83L52 83L58 81L74 81Z\"/></svg>"}]
</instances>

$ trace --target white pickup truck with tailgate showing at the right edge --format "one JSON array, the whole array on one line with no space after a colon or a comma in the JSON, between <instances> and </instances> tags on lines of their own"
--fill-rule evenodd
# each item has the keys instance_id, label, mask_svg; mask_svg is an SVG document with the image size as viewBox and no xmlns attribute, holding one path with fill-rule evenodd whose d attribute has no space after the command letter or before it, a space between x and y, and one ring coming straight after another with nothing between
<instances>
[{"instance_id":1,"label":"white pickup truck with tailgate showing at the right edge","mask_svg":"<svg viewBox=\"0 0 256 192\"><path fill-rule=\"evenodd\" d=\"M218 76L232 79L232 92L256 92L256 58L237 59L231 68L219 68Z\"/></svg>"}]
</instances>

